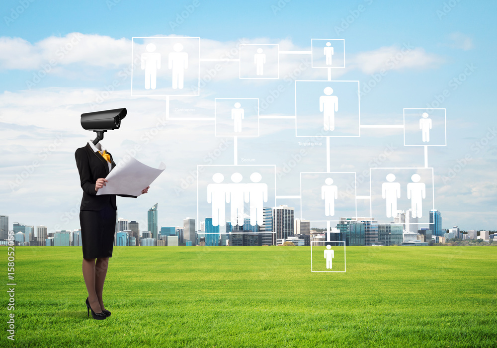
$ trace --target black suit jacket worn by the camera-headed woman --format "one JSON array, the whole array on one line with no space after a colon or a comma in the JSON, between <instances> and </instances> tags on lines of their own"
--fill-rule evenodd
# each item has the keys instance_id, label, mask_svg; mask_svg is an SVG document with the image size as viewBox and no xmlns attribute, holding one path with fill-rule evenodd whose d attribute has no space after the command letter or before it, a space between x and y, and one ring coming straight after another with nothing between
<instances>
[{"instance_id":1,"label":"black suit jacket worn by the camera-headed woman","mask_svg":"<svg viewBox=\"0 0 497 348\"><path fill-rule=\"evenodd\" d=\"M110 156L111 170L114 169L116 164ZM109 172L107 161L98 152L93 152L89 144L76 150L74 154L76 158L76 166L80 173L81 188L83 189L83 198L81 200L80 210L100 210L106 205L110 205L113 209L117 210L116 195L115 194L102 194L97 196L95 191L95 182L100 177L106 177ZM118 194L122 197L133 197L125 194Z\"/></svg>"}]
</instances>

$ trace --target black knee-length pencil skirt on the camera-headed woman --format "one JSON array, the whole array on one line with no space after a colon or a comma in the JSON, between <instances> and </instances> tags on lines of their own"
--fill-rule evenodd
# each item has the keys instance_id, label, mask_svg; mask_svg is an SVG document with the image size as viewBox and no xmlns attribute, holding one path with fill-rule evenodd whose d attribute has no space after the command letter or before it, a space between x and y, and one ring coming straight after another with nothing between
<instances>
[{"instance_id":1,"label":"black knee-length pencil skirt on the camera-headed woman","mask_svg":"<svg viewBox=\"0 0 497 348\"><path fill-rule=\"evenodd\" d=\"M116 231L116 210L110 204L100 210L81 210L83 258L111 258Z\"/></svg>"}]
</instances>

